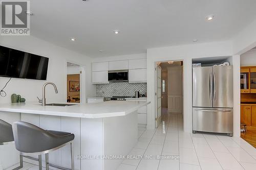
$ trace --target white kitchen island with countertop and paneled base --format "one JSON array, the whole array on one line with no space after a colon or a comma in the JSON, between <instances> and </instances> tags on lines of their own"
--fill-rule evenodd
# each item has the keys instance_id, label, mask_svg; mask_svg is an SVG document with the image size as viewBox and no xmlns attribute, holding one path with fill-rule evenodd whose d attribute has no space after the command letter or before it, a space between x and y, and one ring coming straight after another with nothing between
<instances>
[{"instance_id":1,"label":"white kitchen island with countertop and paneled base","mask_svg":"<svg viewBox=\"0 0 256 170\"><path fill-rule=\"evenodd\" d=\"M126 155L136 144L137 110L147 104L145 101L109 101L73 106L0 104L0 118L9 123L22 120L43 129L74 133L75 169L113 170L122 159L111 159L112 156ZM18 163L14 144L1 146L0 149L4 169ZM68 146L51 152L49 157L50 163L71 167ZM26 158L25 161L31 162Z\"/></svg>"}]
</instances>

